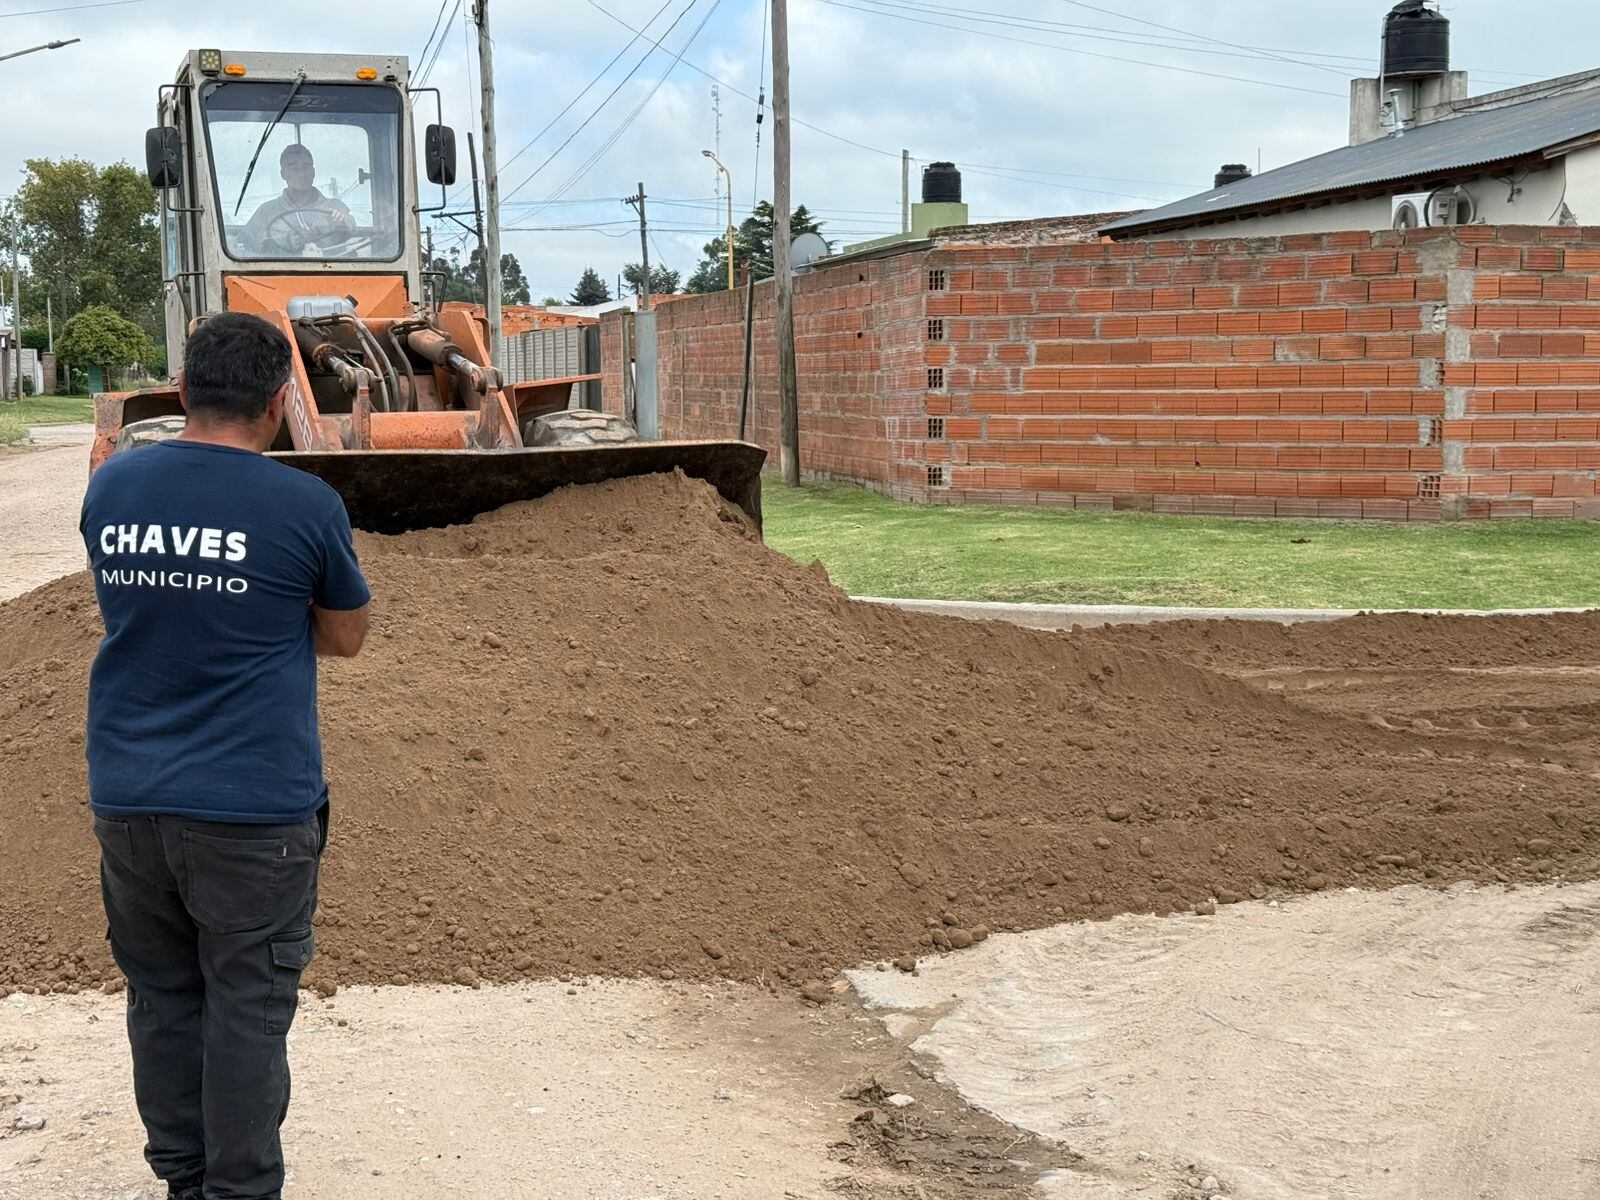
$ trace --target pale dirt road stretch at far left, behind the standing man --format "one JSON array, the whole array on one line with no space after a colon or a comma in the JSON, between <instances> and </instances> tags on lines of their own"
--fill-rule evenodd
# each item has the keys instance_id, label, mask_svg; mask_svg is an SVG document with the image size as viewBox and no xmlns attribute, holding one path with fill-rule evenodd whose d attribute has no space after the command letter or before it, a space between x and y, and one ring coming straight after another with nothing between
<instances>
[{"instance_id":1,"label":"pale dirt road stretch at far left, behind the standing man","mask_svg":"<svg viewBox=\"0 0 1600 1200\"><path fill-rule=\"evenodd\" d=\"M0 600L83 568L78 506L93 426L35 426L34 446L0 453Z\"/></svg>"}]
</instances>

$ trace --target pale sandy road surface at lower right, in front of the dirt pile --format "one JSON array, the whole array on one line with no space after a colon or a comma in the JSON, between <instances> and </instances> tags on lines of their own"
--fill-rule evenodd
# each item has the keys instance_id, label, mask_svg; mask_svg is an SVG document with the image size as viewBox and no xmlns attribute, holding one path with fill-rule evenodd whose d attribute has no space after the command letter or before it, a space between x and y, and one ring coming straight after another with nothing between
<instances>
[{"instance_id":1,"label":"pale sandy road surface at lower right, in front of the dirt pile","mask_svg":"<svg viewBox=\"0 0 1600 1200\"><path fill-rule=\"evenodd\" d=\"M1595 934L1594 883L1342 891L851 978L939 1078L1088 1157L1050 1197L1592 1200Z\"/></svg>"}]
</instances>

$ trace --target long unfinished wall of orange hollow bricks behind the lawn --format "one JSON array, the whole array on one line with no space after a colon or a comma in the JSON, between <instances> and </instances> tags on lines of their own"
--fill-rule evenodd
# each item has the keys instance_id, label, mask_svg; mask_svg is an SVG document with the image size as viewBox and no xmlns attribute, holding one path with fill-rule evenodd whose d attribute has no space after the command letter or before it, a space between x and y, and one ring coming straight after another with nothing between
<instances>
[{"instance_id":1,"label":"long unfinished wall of orange hollow bricks behind the lawn","mask_svg":"<svg viewBox=\"0 0 1600 1200\"><path fill-rule=\"evenodd\" d=\"M906 499L1600 514L1600 229L938 246L797 314L803 466ZM664 434L736 432L741 315L662 309Z\"/></svg>"}]
</instances>

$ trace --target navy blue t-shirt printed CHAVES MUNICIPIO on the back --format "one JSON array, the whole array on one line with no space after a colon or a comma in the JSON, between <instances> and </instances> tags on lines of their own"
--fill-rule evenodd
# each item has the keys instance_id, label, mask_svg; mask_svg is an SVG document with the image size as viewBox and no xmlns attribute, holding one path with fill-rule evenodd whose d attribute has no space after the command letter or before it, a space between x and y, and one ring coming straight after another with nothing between
<instances>
[{"instance_id":1,"label":"navy blue t-shirt printed CHAVES MUNICIPIO on the back","mask_svg":"<svg viewBox=\"0 0 1600 1200\"><path fill-rule=\"evenodd\" d=\"M94 472L78 523L106 621L90 675L90 806L294 822L328 795L310 606L370 598L322 480L162 442Z\"/></svg>"}]
</instances>

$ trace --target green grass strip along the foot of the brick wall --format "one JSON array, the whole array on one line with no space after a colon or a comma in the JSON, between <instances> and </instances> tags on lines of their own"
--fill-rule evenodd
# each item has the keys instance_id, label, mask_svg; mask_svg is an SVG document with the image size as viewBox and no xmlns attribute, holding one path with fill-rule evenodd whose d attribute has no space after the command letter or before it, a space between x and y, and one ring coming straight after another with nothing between
<instances>
[{"instance_id":1,"label":"green grass strip along the foot of the brick wall","mask_svg":"<svg viewBox=\"0 0 1600 1200\"><path fill-rule=\"evenodd\" d=\"M1245 608L1600 605L1600 522L934 507L763 480L766 542L853 595Z\"/></svg>"}]
</instances>

